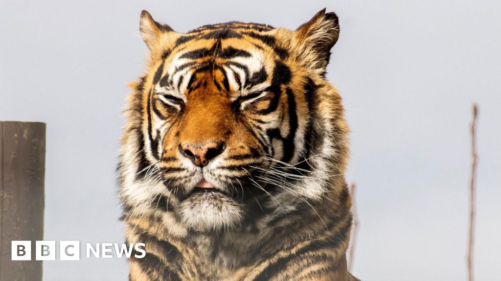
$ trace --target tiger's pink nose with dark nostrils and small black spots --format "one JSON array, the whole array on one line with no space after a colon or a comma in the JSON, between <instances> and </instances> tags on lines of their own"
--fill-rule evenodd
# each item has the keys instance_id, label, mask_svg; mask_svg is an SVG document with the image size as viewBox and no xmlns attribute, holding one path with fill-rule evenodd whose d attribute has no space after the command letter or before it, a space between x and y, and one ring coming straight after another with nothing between
<instances>
[{"instance_id":1,"label":"tiger's pink nose with dark nostrils and small black spots","mask_svg":"<svg viewBox=\"0 0 501 281\"><path fill-rule=\"evenodd\" d=\"M209 161L221 154L224 150L224 142L217 143L215 141L207 142L205 144L179 144L179 151L185 157L190 158L195 165L203 167Z\"/></svg>"}]
</instances>

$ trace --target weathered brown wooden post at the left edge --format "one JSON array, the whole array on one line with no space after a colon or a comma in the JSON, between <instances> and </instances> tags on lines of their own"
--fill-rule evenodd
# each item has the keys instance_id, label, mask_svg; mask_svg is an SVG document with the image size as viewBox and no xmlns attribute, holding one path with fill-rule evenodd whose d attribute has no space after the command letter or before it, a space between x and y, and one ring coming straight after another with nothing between
<instances>
[{"instance_id":1,"label":"weathered brown wooden post at the left edge","mask_svg":"<svg viewBox=\"0 0 501 281\"><path fill-rule=\"evenodd\" d=\"M0 280L41 281L45 123L0 121ZM11 260L11 241L32 241L32 260Z\"/></svg>"}]
</instances>

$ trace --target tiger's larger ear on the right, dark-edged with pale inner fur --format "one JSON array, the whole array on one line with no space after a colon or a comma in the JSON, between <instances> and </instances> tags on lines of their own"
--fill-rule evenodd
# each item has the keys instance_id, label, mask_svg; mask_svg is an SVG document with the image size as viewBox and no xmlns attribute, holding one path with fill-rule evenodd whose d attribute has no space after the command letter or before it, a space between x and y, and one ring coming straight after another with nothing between
<instances>
[{"instance_id":1,"label":"tiger's larger ear on the right, dark-edged with pale inner fur","mask_svg":"<svg viewBox=\"0 0 501 281\"><path fill-rule=\"evenodd\" d=\"M329 63L331 48L339 37L339 18L335 12L325 12L325 8L317 12L308 22L296 29L296 38L301 51L312 60L314 67L325 74Z\"/></svg>"}]
</instances>

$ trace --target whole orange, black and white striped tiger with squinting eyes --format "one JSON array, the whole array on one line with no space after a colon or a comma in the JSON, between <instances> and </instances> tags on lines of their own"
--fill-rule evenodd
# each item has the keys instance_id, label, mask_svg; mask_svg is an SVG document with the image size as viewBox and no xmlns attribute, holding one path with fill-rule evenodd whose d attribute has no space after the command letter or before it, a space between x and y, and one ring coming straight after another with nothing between
<instances>
[{"instance_id":1,"label":"whole orange, black and white striped tiger with squinting eyes","mask_svg":"<svg viewBox=\"0 0 501 281\"><path fill-rule=\"evenodd\" d=\"M349 128L323 9L296 30L186 33L143 10L118 164L129 279L358 280L347 269Z\"/></svg>"}]
</instances>

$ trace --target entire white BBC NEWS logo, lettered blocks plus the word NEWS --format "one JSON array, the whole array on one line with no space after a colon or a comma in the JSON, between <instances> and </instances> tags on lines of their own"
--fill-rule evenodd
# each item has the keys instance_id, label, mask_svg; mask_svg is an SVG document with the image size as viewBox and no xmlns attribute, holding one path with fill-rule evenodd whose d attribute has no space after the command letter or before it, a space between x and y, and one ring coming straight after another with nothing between
<instances>
[{"instance_id":1,"label":"entire white BBC NEWS logo, lettered blocks plus the word NEWS","mask_svg":"<svg viewBox=\"0 0 501 281\"><path fill-rule=\"evenodd\" d=\"M32 259L32 241L12 241L11 259L12 260L31 260ZM36 260L56 260L56 241L36 241L35 259ZM117 257L125 256L143 258L146 255L144 243L86 243L86 257L112 258L115 252ZM59 241L59 259L60 260L80 260L80 241Z\"/></svg>"}]
</instances>

